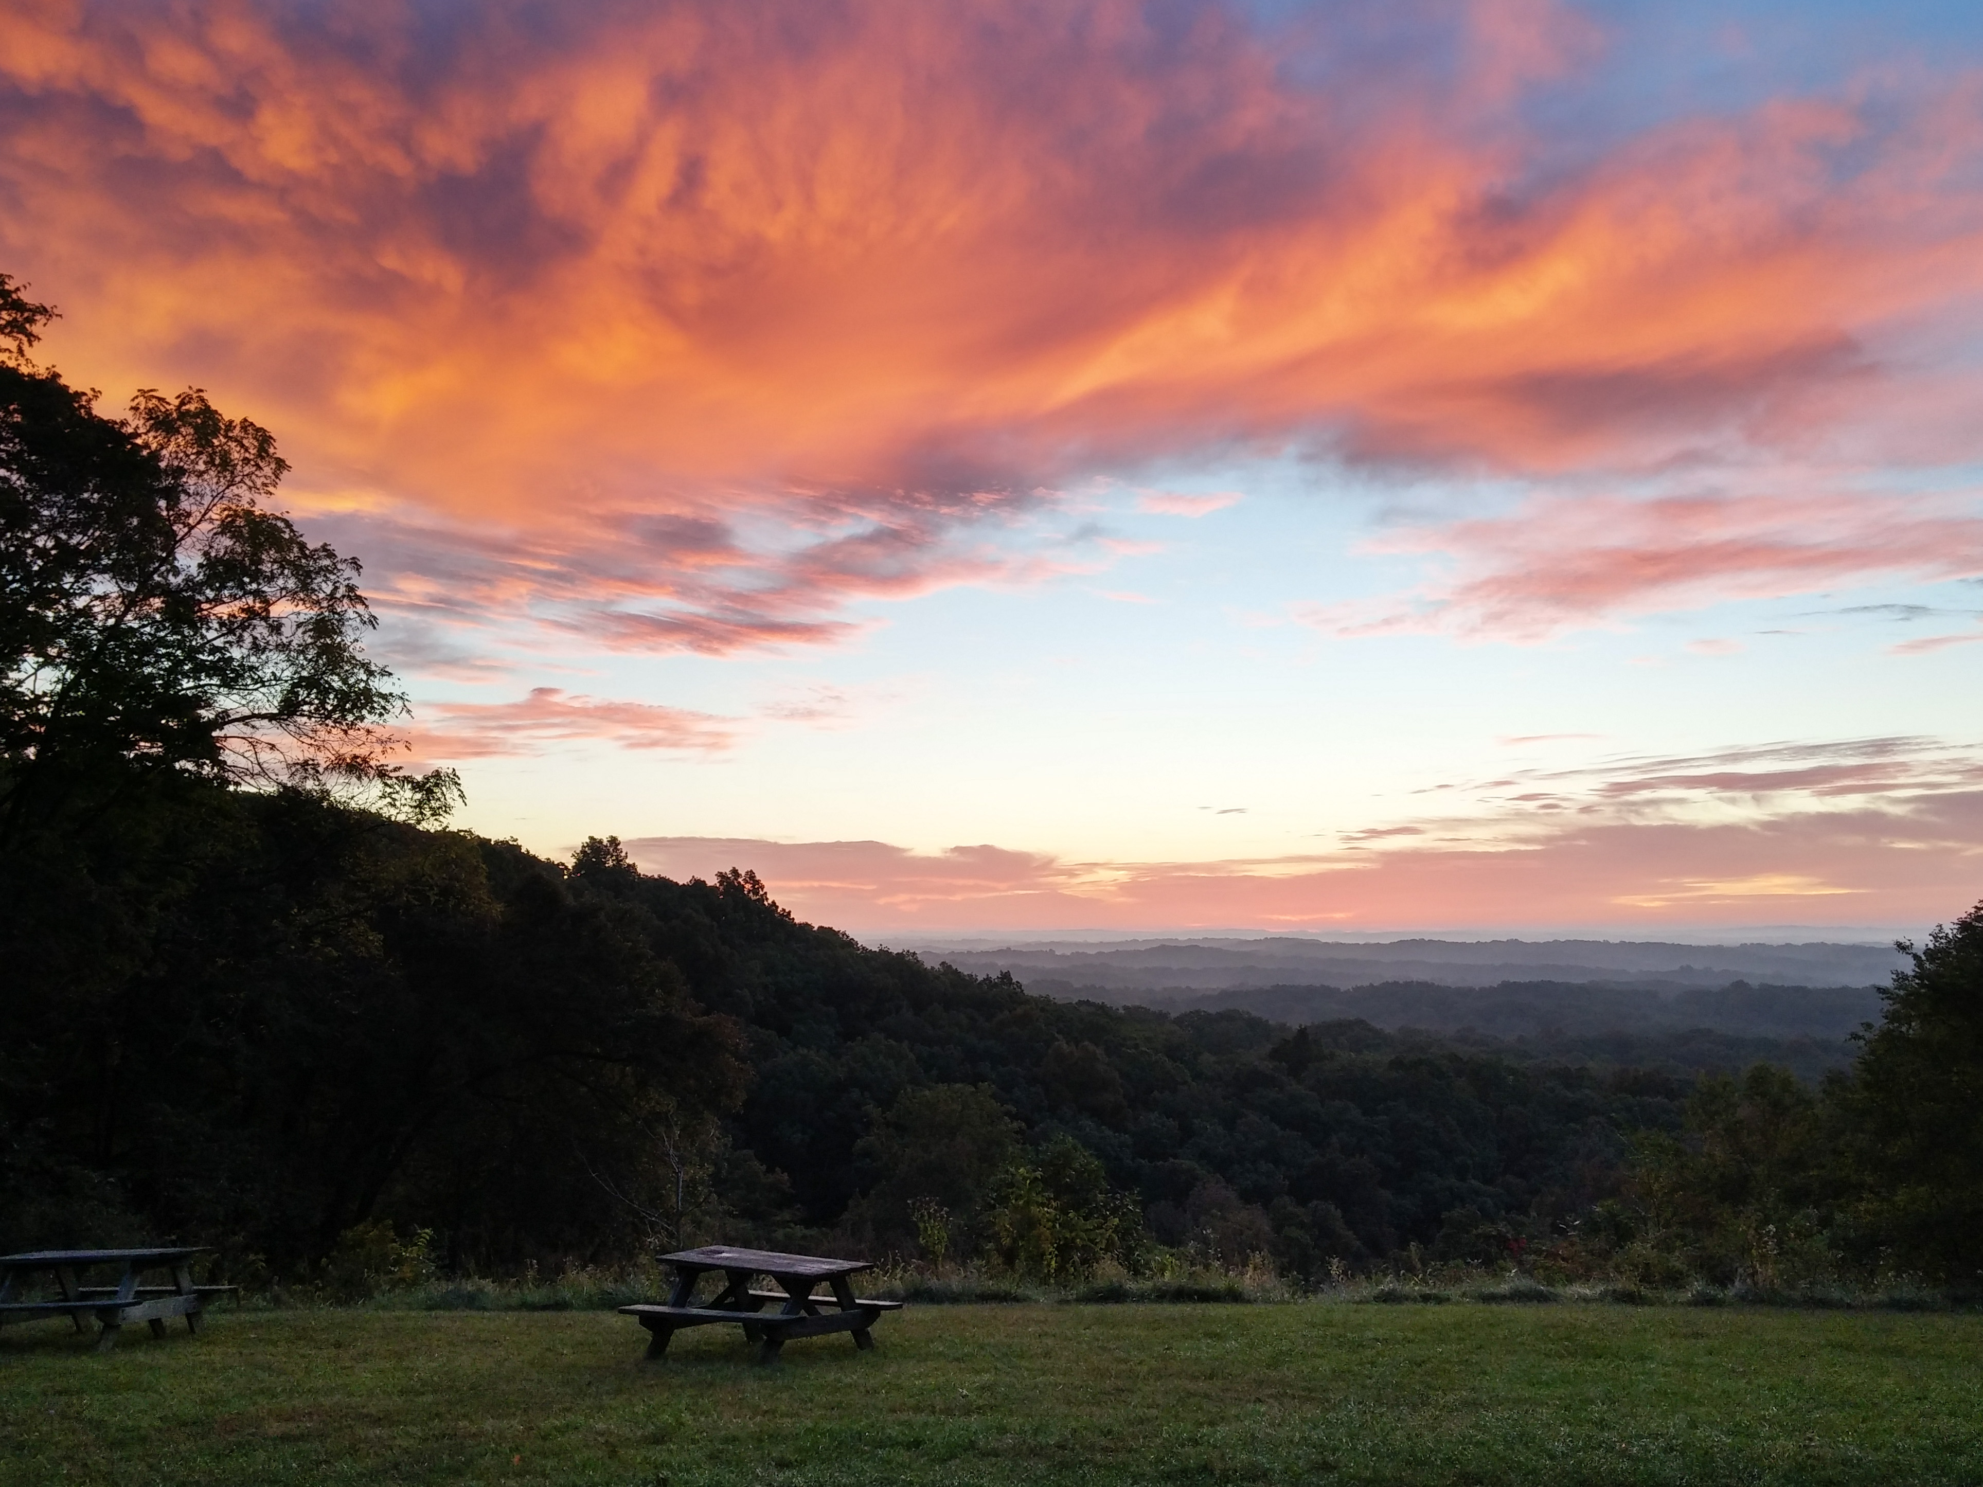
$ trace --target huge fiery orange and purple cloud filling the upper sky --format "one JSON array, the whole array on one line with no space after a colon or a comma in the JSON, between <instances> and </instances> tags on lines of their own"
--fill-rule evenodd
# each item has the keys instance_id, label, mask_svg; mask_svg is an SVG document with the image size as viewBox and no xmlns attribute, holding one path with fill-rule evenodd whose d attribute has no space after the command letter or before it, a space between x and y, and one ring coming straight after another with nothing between
<instances>
[{"instance_id":1,"label":"huge fiery orange and purple cloud filling the upper sky","mask_svg":"<svg viewBox=\"0 0 1983 1487\"><path fill-rule=\"evenodd\" d=\"M1920 347L1977 317L1983 81L1563 163L1519 103L1596 56L1549 0L8 0L0 252L71 371L204 383L367 531L512 533L480 559L529 601L583 549L575 619L629 646L831 640L1005 573L1069 480L1208 450L1975 458ZM623 551L642 519L678 527ZM1713 583L1495 573L1432 603ZM490 603L446 587L393 597Z\"/></svg>"}]
</instances>

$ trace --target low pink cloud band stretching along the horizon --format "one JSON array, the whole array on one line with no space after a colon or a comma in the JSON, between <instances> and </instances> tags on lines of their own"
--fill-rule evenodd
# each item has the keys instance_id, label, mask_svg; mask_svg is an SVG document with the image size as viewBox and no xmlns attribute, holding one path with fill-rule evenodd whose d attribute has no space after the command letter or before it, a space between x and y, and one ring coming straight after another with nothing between
<instances>
[{"instance_id":1,"label":"low pink cloud band stretching along the horizon","mask_svg":"<svg viewBox=\"0 0 1983 1487\"><path fill-rule=\"evenodd\" d=\"M1065 862L990 847L642 839L648 870L750 866L805 920L904 930L1922 924L1983 896L1983 791L1931 813L1571 825L1523 847Z\"/></svg>"}]
</instances>

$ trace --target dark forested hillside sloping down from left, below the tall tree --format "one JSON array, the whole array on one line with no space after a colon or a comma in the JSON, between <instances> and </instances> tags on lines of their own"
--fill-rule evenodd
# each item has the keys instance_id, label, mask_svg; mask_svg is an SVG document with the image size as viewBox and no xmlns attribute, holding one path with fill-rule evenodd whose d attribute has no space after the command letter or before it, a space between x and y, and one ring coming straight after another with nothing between
<instances>
[{"instance_id":1,"label":"dark forested hillside sloping down from left, below the tall tree","mask_svg":"<svg viewBox=\"0 0 1983 1487\"><path fill-rule=\"evenodd\" d=\"M1031 997L611 845L567 870L295 791L157 809L8 884L8 950L52 973L6 1043L0 1243L169 1229L293 1267L383 1217L498 1269L682 1223L910 1249L930 1198L974 1245L995 1172L1071 1138L1154 1239L1313 1273L1456 1211L1575 1215L1686 1094L1364 1023Z\"/></svg>"}]
</instances>

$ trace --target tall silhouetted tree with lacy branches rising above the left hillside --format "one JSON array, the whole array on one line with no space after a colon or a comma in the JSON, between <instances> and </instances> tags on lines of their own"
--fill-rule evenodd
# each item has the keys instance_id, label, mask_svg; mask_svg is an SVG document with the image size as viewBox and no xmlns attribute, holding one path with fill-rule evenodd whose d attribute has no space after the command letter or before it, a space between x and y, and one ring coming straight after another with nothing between
<instances>
[{"instance_id":1,"label":"tall silhouetted tree with lacy branches rising above the left hillside","mask_svg":"<svg viewBox=\"0 0 1983 1487\"><path fill-rule=\"evenodd\" d=\"M357 559L270 508L274 436L198 389L101 416L30 359L52 317L0 274L0 835L161 769L444 811L452 775L387 763L405 698L359 644Z\"/></svg>"}]
</instances>

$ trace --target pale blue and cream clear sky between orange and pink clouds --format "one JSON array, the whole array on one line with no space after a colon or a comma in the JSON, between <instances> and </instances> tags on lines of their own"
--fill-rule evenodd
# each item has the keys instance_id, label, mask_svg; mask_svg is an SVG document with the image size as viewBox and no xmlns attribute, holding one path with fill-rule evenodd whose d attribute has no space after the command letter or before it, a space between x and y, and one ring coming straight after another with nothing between
<instances>
[{"instance_id":1,"label":"pale blue and cream clear sky between orange and pink clouds","mask_svg":"<svg viewBox=\"0 0 1983 1487\"><path fill-rule=\"evenodd\" d=\"M1335 636L1297 607L1396 593L1438 561L1362 551L1398 488L1297 462L1174 474L1164 488L1243 500L1178 517L1107 488L1089 498L1103 510L1079 514L1128 539L1107 569L865 601L855 615L869 629L833 648L597 656L583 690L754 722L726 755L585 744L569 745L583 771L478 763L486 829L514 801L565 821L547 849L611 829L1222 860L1479 813L1465 789L1436 787L1493 779L1509 738L1565 736L1537 747L1576 763L1983 730L1973 646L1894 652L1961 634L1977 585L1731 601L1541 644ZM1424 484L1416 498L1459 496Z\"/></svg>"}]
</instances>

